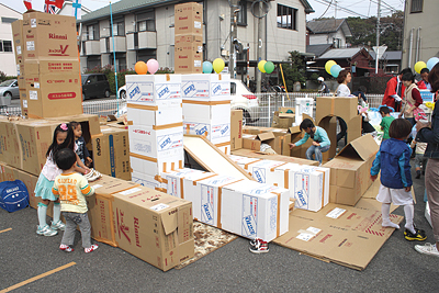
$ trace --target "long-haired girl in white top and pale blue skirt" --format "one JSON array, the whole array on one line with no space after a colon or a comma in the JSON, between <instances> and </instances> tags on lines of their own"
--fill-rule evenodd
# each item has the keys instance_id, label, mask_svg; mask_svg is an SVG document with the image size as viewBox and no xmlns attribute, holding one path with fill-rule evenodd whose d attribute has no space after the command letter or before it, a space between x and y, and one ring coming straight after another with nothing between
<instances>
[{"instance_id":1,"label":"long-haired girl in white top and pale blue skirt","mask_svg":"<svg viewBox=\"0 0 439 293\"><path fill-rule=\"evenodd\" d=\"M56 166L54 161L55 155L58 150L63 148L70 148L75 150L75 142L74 142L74 131L68 124L59 124L56 126L54 132L54 139L52 145L48 147L46 153L46 164L43 167L42 172L40 173L38 181L35 187L35 196L42 198L42 201L38 203L37 215L38 215L38 228L36 229L36 234L44 236L55 236L57 234L57 229L64 230L65 225L59 219L61 210L59 204L59 199L55 198L52 192L52 187L54 185L55 178L61 173L61 170ZM87 173L89 169L82 164L77 155L77 162L80 167L76 167L77 172ZM46 224L46 213L47 206L54 202L54 219L52 221L52 226L49 227Z\"/></svg>"}]
</instances>

